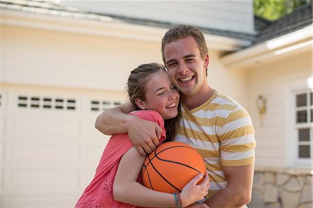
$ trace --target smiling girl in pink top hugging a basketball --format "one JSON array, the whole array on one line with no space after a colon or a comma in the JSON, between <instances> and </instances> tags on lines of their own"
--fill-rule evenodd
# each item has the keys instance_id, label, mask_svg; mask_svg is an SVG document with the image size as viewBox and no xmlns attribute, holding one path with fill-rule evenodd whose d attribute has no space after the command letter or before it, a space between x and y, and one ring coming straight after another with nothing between
<instances>
[{"instance_id":1,"label":"smiling girl in pink top hugging a basketball","mask_svg":"<svg viewBox=\"0 0 313 208\"><path fill-rule=\"evenodd\" d=\"M165 67L157 63L140 65L129 75L131 114L157 122L163 127L160 139L172 139L179 125L179 92L172 85ZM165 124L164 124L165 120ZM81 195L76 207L175 207L177 196L148 189L141 184L145 157L131 144L128 134L115 134L106 145L95 178ZM182 206L202 200L209 189L209 177L198 184L202 175L191 180L180 193Z\"/></svg>"}]
</instances>

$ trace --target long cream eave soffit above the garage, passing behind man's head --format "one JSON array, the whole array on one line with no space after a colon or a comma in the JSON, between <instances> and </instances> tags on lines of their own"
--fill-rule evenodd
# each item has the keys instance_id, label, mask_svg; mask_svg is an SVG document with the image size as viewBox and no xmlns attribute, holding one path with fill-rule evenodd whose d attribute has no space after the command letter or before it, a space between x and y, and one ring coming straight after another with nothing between
<instances>
[{"instance_id":1,"label":"long cream eave soffit above the garage, passing behind man's head","mask_svg":"<svg viewBox=\"0 0 313 208\"><path fill-rule=\"evenodd\" d=\"M56 17L10 10L0 10L0 12L0 24L3 25L100 35L111 38L161 42L161 38L168 31L167 28L130 24L111 17L103 17L101 21L93 21L90 19L79 19L79 14L76 18L69 18L66 17L66 14L63 17ZM207 33L204 33L204 36L209 49L221 51L236 51L250 43L246 40Z\"/></svg>"}]
</instances>

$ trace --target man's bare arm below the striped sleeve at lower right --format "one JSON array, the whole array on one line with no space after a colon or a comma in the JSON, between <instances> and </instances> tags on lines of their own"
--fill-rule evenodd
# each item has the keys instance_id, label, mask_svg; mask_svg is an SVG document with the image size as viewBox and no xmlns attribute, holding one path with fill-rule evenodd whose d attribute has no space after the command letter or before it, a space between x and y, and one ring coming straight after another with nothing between
<instances>
[{"instance_id":1,"label":"man's bare arm below the striped sleeve at lower right","mask_svg":"<svg viewBox=\"0 0 313 208\"><path fill-rule=\"evenodd\" d=\"M205 203L211 207L242 207L251 200L254 164L223 167L227 187L213 195Z\"/></svg>"}]
</instances>

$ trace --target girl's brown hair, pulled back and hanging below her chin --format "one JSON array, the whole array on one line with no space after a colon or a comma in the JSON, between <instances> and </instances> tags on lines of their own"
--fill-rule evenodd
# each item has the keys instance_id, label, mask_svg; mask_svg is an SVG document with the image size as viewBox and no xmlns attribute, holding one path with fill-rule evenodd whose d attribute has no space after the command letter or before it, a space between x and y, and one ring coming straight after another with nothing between
<instances>
[{"instance_id":1,"label":"girl's brown hair, pulled back and hanging below her chin","mask_svg":"<svg viewBox=\"0 0 313 208\"><path fill-rule=\"evenodd\" d=\"M166 67L159 63L147 63L139 65L136 69L131 71L127 81L127 93L129 95L129 101L134 105L136 110L140 109L136 105L135 99L138 97L145 101L145 83L147 83L152 74L161 70L166 71ZM181 114L180 107L178 107L178 115L175 118L164 121L166 141L171 141L175 137L179 127Z\"/></svg>"}]
</instances>

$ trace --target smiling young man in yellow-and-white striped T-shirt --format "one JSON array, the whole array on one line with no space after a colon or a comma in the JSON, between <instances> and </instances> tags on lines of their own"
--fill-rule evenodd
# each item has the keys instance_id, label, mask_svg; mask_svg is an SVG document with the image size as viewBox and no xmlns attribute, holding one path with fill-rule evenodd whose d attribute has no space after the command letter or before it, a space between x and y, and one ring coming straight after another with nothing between
<instances>
[{"instance_id":1,"label":"smiling young man in yellow-and-white striped T-shirt","mask_svg":"<svg viewBox=\"0 0 313 208\"><path fill-rule=\"evenodd\" d=\"M179 25L162 40L163 61L181 93L182 120L175 141L195 147L207 163L209 207L244 207L251 199L255 138L246 109L207 83L209 54L199 29ZM96 121L104 134L128 132L141 154L159 145L161 129L152 122L127 115L123 104L105 111Z\"/></svg>"}]
</instances>

